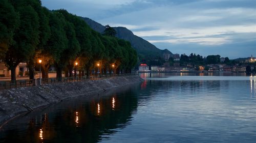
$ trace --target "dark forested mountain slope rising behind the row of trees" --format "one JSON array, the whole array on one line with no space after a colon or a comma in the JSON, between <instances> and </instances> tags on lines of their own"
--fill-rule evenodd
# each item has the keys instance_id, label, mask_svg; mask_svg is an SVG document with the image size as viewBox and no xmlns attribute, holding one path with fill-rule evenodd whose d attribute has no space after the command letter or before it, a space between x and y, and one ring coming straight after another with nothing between
<instances>
[{"instance_id":1,"label":"dark forested mountain slope rising behind the row of trees","mask_svg":"<svg viewBox=\"0 0 256 143\"><path fill-rule=\"evenodd\" d=\"M100 23L87 18L81 17L87 24L95 31L99 33L103 33L105 30L105 26L101 25ZM116 30L116 37L131 42L132 46L137 51L140 59L157 59L159 56L165 60L168 60L170 56L173 56L173 53L167 49L161 50L151 44L150 42L142 39L133 34L132 31L128 30L125 27L113 27Z\"/></svg>"}]
</instances>

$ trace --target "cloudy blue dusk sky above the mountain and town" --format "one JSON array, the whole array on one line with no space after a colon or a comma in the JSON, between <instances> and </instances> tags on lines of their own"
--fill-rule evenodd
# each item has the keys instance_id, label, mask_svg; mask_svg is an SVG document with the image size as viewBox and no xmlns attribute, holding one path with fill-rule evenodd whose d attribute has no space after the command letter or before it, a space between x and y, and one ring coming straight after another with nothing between
<instances>
[{"instance_id":1,"label":"cloudy blue dusk sky above the mountain and town","mask_svg":"<svg viewBox=\"0 0 256 143\"><path fill-rule=\"evenodd\" d=\"M102 25L123 26L173 53L256 56L256 0L41 0Z\"/></svg>"}]
</instances>

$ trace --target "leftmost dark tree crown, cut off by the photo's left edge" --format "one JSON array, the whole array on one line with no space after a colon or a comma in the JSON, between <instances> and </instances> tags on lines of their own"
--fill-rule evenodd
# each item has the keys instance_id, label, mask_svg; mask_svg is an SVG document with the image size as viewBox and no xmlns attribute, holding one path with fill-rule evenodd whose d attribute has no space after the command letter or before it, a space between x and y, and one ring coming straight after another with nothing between
<instances>
[{"instance_id":1,"label":"leftmost dark tree crown, cut off by the photo's left edge","mask_svg":"<svg viewBox=\"0 0 256 143\"><path fill-rule=\"evenodd\" d=\"M10 45L14 44L14 31L19 25L19 16L14 7L7 1L0 3L0 59L5 58Z\"/></svg>"}]
</instances>

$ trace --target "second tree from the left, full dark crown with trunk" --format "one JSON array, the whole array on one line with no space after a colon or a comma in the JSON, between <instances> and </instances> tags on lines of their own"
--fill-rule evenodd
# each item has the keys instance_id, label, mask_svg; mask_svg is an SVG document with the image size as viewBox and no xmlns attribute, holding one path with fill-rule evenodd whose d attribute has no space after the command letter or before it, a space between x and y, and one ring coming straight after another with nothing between
<instances>
[{"instance_id":1,"label":"second tree from the left, full dark crown with trunk","mask_svg":"<svg viewBox=\"0 0 256 143\"><path fill-rule=\"evenodd\" d=\"M39 43L39 18L36 11L25 1L12 2L15 10L19 13L20 25L15 30L13 40L6 53L5 64L11 70L11 80L16 80L15 68L21 62L26 62L35 52Z\"/></svg>"}]
</instances>

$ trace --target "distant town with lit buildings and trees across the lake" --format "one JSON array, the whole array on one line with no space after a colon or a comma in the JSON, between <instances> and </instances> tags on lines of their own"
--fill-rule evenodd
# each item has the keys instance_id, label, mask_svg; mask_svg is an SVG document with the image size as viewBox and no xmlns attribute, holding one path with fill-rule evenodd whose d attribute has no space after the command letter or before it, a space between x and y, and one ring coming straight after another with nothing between
<instances>
[{"instance_id":1,"label":"distant town with lit buildings and trees across the lake","mask_svg":"<svg viewBox=\"0 0 256 143\"><path fill-rule=\"evenodd\" d=\"M256 58L229 60L220 55L208 55L203 58L191 53L164 55L163 65L150 65L141 63L138 72L246 72L256 73ZM167 60L168 59L168 60Z\"/></svg>"}]
</instances>

